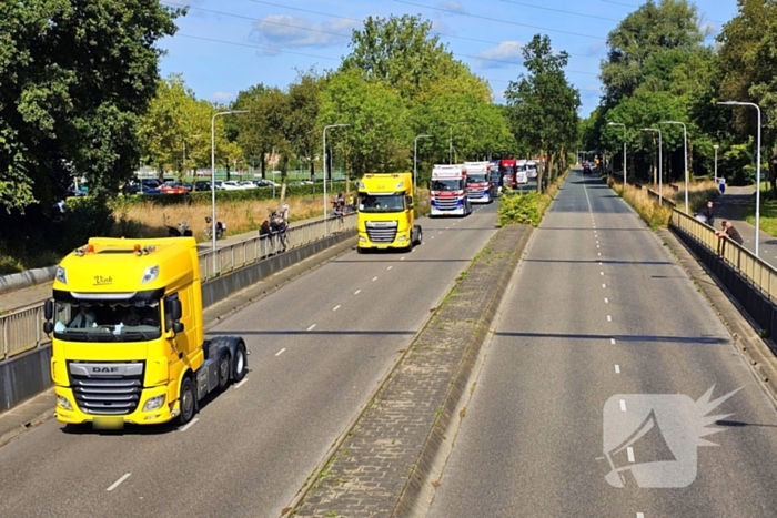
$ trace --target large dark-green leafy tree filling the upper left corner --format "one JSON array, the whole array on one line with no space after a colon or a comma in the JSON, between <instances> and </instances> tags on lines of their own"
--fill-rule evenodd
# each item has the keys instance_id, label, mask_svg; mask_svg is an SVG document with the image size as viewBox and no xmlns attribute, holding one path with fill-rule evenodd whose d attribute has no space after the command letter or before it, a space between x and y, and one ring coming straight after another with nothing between
<instances>
[{"instance_id":1,"label":"large dark-green leafy tree filling the upper left corner","mask_svg":"<svg viewBox=\"0 0 777 518\"><path fill-rule=\"evenodd\" d=\"M183 13L157 0L0 2L0 205L48 207L77 174L107 196L131 176L155 43Z\"/></svg>"}]
</instances>

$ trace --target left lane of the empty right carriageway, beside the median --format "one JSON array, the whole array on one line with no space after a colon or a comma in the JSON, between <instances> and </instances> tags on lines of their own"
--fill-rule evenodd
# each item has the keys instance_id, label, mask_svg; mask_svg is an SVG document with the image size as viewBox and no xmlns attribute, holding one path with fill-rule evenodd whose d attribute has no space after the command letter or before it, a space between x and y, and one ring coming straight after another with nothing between
<instances>
[{"instance_id":1,"label":"left lane of the empty right carriageway, beside the median","mask_svg":"<svg viewBox=\"0 0 777 518\"><path fill-rule=\"evenodd\" d=\"M589 258L596 248L593 238L561 238L559 231L544 232L545 225L574 228L579 216L552 211L534 233L431 517L609 516L607 504L594 497L599 488L589 475L599 464L601 436L581 434L601 429L598 392L617 388L608 344L586 336L602 331L599 308L581 303L601 290L599 275L568 261L533 261Z\"/></svg>"}]
</instances>

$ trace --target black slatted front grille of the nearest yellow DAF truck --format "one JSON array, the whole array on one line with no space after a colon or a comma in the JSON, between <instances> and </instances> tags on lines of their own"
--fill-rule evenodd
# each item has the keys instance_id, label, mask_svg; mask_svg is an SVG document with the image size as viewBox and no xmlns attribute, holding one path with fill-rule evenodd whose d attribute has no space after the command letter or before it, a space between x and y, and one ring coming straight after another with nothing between
<instances>
[{"instance_id":1,"label":"black slatted front grille of the nearest yellow DAF truck","mask_svg":"<svg viewBox=\"0 0 777 518\"><path fill-rule=\"evenodd\" d=\"M132 414L143 390L143 364L121 364L133 368L118 375L85 374L91 365L97 364L70 364L70 385L81 412L93 415Z\"/></svg>"}]
</instances>

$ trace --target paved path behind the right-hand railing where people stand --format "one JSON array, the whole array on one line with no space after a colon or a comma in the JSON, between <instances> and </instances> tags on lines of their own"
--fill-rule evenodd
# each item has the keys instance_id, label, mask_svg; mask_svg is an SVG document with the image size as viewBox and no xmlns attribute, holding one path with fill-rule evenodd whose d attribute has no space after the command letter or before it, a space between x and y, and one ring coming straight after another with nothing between
<instances>
[{"instance_id":1,"label":"paved path behind the right-hand railing where people stand","mask_svg":"<svg viewBox=\"0 0 777 518\"><path fill-rule=\"evenodd\" d=\"M756 190L753 186L746 187L726 187L726 194L718 195L713 200L715 211L715 230L720 230L720 223L725 220L730 221L734 227L739 231L745 240L744 246L750 252L755 251L756 227L747 223L743 217L745 206L753 199ZM771 266L777 267L777 237L760 232L758 252L760 258Z\"/></svg>"}]
</instances>

